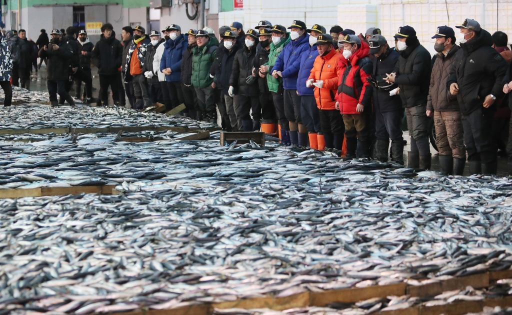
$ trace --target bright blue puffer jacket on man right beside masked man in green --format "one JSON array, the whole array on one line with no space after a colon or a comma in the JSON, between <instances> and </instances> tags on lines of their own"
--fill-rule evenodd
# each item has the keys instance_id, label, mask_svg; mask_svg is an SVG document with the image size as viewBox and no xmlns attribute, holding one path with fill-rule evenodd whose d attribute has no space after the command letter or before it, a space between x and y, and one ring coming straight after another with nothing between
<instances>
[{"instance_id":1,"label":"bright blue puffer jacket on man right beside masked man in green","mask_svg":"<svg viewBox=\"0 0 512 315\"><path fill-rule=\"evenodd\" d=\"M309 34L291 40L283 52L279 54L278 60L272 70L281 71L283 76L283 88L285 90L297 89L298 70L301 67L303 52L309 50Z\"/></svg>"}]
</instances>

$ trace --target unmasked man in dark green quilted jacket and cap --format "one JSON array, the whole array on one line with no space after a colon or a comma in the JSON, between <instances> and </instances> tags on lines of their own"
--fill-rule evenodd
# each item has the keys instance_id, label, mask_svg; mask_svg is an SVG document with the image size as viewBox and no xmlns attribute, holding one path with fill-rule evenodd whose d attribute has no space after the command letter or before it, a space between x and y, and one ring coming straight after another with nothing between
<instances>
[{"instance_id":1,"label":"unmasked man in dark green quilted jacket and cap","mask_svg":"<svg viewBox=\"0 0 512 315\"><path fill-rule=\"evenodd\" d=\"M217 46L205 30L198 30L196 34L197 47L192 57L191 83L196 89L197 98L203 116L215 117L214 78L210 76L211 64L214 62Z\"/></svg>"}]
</instances>

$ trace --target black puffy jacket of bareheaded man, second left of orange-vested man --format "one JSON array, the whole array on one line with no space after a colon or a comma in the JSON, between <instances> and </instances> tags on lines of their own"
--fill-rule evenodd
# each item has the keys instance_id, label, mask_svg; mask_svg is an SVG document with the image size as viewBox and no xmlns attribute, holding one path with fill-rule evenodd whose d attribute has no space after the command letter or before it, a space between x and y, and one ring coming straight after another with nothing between
<instances>
[{"instance_id":1,"label":"black puffy jacket of bareheaded man, second left of orange-vested man","mask_svg":"<svg viewBox=\"0 0 512 315\"><path fill-rule=\"evenodd\" d=\"M92 51L92 60L98 67L98 74L112 75L119 72L121 67L123 47L121 42L115 38L115 33L109 38L103 34L97 41Z\"/></svg>"}]
</instances>

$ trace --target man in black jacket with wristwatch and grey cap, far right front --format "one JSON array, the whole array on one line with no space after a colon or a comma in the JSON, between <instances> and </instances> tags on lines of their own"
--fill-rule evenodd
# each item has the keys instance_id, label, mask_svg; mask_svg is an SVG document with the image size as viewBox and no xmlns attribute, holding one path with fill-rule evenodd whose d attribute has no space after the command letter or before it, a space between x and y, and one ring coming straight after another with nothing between
<instances>
[{"instance_id":1,"label":"man in black jacket with wristwatch and grey cap, far right front","mask_svg":"<svg viewBox=\"0 0 512 315\"><path fill-rule=\"evenodd\" d=\"M476 20L466 18L456 28L461 49L455 54L447 85L459 101L470 175L496 174L498 150L491 134L507 64L491 47L493 37Z\"/></svg>"}]
</instances>

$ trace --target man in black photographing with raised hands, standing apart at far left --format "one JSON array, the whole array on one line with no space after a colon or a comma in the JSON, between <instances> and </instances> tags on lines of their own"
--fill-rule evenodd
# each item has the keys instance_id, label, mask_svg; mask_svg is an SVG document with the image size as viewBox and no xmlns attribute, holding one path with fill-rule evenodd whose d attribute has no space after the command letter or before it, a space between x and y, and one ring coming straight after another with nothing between
<instances>
[{"instance_id":1,"label":"man in black photographing with raised hands, standing apart at far left","mask_svg":"<svg viewBox=\"0 0 512 315\"><path fill-rule=\"evenodd\" d=\"M69 66L73 57L71 46L62 38L62 33L58 29L50 33L52 39L50 43L39 50L40 58L48 58L47 66L47 86L50 94L50 103L52 107L58 105L57 94L68 101L71 106L75 101L66 91L66 81L69 79Z\"/></svg>"}]
</instances>

